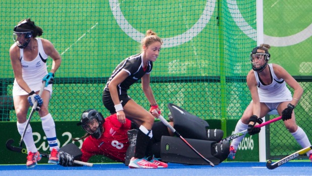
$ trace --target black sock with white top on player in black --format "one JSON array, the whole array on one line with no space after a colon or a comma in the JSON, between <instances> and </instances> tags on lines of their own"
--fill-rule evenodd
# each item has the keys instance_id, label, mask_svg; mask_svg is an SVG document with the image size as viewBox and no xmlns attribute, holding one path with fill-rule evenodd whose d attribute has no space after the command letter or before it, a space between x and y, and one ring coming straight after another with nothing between
<instances>
[{"instance_id":1,"label":"black sock with white top on player in black","mask_svg":"<svg viewBox=\"0 0 312 176\"><path fill-rule=\"evenodd\" d=\"M136 137L134 157L143 158L145 156L146 148L151 137L151 130L147 130L144 126L141 125Z\"/></svg>"}]
</instances>

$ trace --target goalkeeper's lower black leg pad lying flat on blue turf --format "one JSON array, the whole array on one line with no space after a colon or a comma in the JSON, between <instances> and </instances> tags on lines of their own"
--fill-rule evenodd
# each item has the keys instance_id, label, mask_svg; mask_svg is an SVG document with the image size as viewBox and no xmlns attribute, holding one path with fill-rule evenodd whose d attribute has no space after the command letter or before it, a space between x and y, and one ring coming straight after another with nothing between
<instances>
[{"instance_id":1,"label":"goalkeeper's lower black leg pad lying flat on blue turf","mask_svg":"<svg viewBox=\"0 0 312 176\"><path fill-rule=\"evenodd\" d=\"M185 139L205 158L215 165L224 161L230 153L228 141L217 143L215 141ZM163 136L161 142L161 158L164 162L182 164L207 165L201 157L192 151L183 141L177 137Z\"/></svg>"}]
</instances>

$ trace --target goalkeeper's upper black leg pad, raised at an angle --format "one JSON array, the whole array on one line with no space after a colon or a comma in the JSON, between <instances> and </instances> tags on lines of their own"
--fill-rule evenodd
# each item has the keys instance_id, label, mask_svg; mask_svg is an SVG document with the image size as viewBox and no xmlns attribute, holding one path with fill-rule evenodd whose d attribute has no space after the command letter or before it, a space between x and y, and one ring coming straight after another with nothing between
<instances>
[{"instance_id":1,"label":"goalkeeper's upper black leg pad, raised at an angle","mask_svg":"<svg viewBox=\"0 0 312 176\"><path fill-rule=\"evenodd\" d=\"M223 138L223 131L219 129L207 130L209 124L198 116L189 113L181 107L168 103L174 128L183 138L200 139L219 142Z\"/></svg>"}]
</instances>

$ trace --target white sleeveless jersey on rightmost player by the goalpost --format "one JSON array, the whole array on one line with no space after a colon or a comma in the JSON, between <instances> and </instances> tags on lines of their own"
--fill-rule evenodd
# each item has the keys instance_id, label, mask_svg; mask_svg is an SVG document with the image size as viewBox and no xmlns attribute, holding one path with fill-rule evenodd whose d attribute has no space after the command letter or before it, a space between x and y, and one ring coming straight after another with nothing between
<instances>
[{"instance_id":1,"label":"white sleeveless jersey on rightmost player by the goalpost","mask_svg":"<svg viewBox=\"0 0 312 176\"><path fill-rule=\"evenodd\" d=\"M292 95L290 90L287 88L285 81L276 77L272 64L268 64L268 66L272 77L272 83L269 85L264 85L259 78L258 73L254 72L260 102L277 103L291 101Z\"/></svg>"}]
</instances>

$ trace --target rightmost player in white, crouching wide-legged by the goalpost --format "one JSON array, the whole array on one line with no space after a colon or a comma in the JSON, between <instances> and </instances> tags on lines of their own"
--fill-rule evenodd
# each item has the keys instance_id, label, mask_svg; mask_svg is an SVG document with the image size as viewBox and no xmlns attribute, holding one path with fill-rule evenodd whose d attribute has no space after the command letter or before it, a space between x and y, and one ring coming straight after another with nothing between
<instances>
[{"instance_id":1,"label":"rightmost player in white, crouching wide-legged by the goalpost","mask_svg":"<svg viewBox=\"0 0 312 176\"><path fill-rule=\"evenodd\" d=\"M252 101L245 109L241 119L235 127L235 132L248 131L249 135L260 132L260 128L254 128L259 122L258 118L263 118L268 112L277 110L282 115L285 127L290 134L300 144L302 148L310 146L310 142L305 132L297 126L294 108L298 104L303 89L299 83L281 66L268 64L270 60L270 45L262 44L252 49L250 62L252 70L247 75L247 85L251 94ZM291 95L286 83L294 90ZM284 130L281 129L281 133ZM229 159L235 159L235 153L239 143L244 136L232 141ZM312 151L307 155L312 160Z\"/></svg>"}]
</instances>

